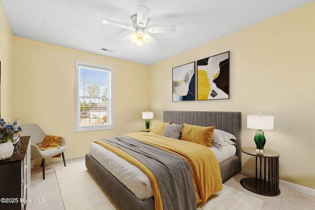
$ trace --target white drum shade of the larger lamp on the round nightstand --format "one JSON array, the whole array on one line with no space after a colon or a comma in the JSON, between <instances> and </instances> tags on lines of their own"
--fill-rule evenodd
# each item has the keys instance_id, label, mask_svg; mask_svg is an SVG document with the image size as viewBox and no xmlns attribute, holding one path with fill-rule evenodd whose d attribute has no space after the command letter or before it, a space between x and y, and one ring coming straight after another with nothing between
<instances>
[{"instance_id":1,"label":"white drum shade of the larger lamp on the round nightstand","mask_svg":"<svg viewBox=\"0 0 315 210\"><path fill-rule=\"evenodd\" d=\"M273 115L248 115L247 127L257 130L273 130L274 116Z\"/></svg>"}]
</instances>

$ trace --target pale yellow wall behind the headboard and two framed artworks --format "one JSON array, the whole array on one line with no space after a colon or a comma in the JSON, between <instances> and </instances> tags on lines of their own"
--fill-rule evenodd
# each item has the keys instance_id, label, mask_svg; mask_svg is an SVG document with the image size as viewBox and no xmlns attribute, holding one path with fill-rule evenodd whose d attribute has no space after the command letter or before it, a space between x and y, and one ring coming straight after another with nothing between
<instances>
[{"instance_id":1,"label":"pale yellow wall behind the headboard and two framed artworks","mask_svg":"<svg viewBox=\"0 0 315 210\"><path fill-rule=\"evenodd\" d=\"M315 189L315 2L162 60L150 68L150 110L241 111L242 146L254 147L247 115L273 114L265 148L281 153L280 179ZM172 102L172 68L230 51L230 99ZM243 154L243 170L254 158Z\"/></svg>"}]
</instances>

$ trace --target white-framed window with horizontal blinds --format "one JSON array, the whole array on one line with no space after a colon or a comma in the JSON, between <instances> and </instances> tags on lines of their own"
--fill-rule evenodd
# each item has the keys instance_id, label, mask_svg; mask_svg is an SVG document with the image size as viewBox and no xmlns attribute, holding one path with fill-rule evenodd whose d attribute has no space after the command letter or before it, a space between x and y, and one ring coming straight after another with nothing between
<instances>
[{"instance_id":1,"label":"white-framed window with horizontal blinds","mask_svg":"<svg viewBox=\"0 0 315 210\"><path fill-rule=\"evenodd\" d=\"M75 132L113 128L113 68L76 61Z\"/></svg>"}]
</instances>

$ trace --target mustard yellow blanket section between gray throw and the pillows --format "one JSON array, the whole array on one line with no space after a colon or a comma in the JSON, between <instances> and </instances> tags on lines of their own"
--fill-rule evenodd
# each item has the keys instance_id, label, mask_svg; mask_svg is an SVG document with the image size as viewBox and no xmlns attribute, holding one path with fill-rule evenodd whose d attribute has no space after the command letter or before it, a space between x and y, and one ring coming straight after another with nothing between
<instances>
[{"instance_id":1,"label":"mustard yellow blanket section between gray throw and the pillows","mask_svg":"<svg viewBox=\"0 0 315 210\"><path fill-rule=\"evenodd\" d=\"M188 161L195 185L197 204L207 199L223 187L217 157L209 148L177 139L170 139L150 133L130 133L126 136L155 145L163 150L181 155ZM208 166L208 167L205 167Z\"/></svg>"}]
</instances>

